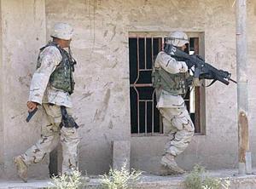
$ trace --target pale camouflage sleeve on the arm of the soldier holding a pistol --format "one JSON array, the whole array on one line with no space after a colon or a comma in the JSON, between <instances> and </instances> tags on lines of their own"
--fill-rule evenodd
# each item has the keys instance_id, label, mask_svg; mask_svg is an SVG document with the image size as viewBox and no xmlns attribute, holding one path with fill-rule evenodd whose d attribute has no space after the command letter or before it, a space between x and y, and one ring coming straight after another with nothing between
<instances>
[{"instance_id":1,"label":"pale camouflage sleeve on the arm of the soldier holding a pistol","mask_svg":"<svg viewBox=\"0 0 256 189\"><path fill-rule=\"evenodd\" d=\"M40 54L41 66L34 72L30 86L29 101L42 104L44 90L49 77L56 66L61 62L61 53L55 47L47 47Z\"/></svg>"}]
</instances>

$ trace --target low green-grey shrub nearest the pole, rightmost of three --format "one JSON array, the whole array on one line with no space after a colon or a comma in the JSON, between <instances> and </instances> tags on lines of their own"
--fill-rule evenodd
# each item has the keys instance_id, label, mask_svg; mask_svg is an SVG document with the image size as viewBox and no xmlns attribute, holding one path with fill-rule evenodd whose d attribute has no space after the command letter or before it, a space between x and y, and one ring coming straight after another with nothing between
<instances>
[{"instance_id":1,"label":"low green-grey shrub nearest the pole, rightmost of three","mask_svg":"<svg viewBox=\"0 0 256 189\"><path fill-rule=\"evenodd\" d=\"M186 177L186 189L229 189L230 179L217 179L206 175L206 170L200 165L195 165Z\"/></svg>"}]
</instances>

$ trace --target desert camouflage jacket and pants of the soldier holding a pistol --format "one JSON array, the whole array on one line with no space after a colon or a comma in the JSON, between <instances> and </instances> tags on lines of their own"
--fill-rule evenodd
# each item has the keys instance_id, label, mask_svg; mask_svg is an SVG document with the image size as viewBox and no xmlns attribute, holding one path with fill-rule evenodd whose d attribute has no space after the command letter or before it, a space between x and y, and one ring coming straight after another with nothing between
<instances>
[{"instance_id":1,"label":"desert camouflage jacket and pants of the soldier holding a pistol","mask_svg":"<svg viewBox=\"0 0 256 189\"><path fill-rule=\"evenodd\" d=\"M38 57L41 66L32 77L29 101L38 102L43 106L48 117L48 123L42 126L41 138L38 142L21 155L26 165L40 162L48 152L57 146L61 139L62 146L62 173L69 173L77 169L79 134L75 128L60 128L61 107L67 107L71 114L72 102L70 95L62 90L54 89L49 85L49 77L61 62L60 50L55 46L46 47Z\"/></svg>"}]
</instances>

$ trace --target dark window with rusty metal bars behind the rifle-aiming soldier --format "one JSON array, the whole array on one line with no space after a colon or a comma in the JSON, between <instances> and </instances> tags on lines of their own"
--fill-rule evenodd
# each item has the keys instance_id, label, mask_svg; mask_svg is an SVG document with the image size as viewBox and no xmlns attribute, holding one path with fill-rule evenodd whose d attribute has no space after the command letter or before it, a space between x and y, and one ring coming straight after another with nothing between
<instances>
[{"instance_id":1,"label":"dark window with rusty metal bars behind the rifle-aiming soldier","mask_svg":"<svg viewBox=\"0 0 256 189\"><path fill-rule=\"evenodd\" d=\"M168 33L131 32L129 36L131 134L160 135L163 133L160 112L157 110L151 72L156 55L163 49ZM189 34L187 53L199 54L203 49L203 33ZM203 56L203 50L201 51ZM205 92L203 87L191 88L184 100L195 123L195 133L204 133Z\"/></svg>"}]
</instances>

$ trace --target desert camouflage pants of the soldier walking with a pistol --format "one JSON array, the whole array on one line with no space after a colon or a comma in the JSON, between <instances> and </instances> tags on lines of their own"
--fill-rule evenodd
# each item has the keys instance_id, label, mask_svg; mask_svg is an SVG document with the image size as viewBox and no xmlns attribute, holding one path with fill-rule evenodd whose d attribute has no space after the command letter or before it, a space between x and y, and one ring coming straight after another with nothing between
<instances>
[{"instance_id":1,"label":"desert camouflage pants of the soldier walking with a pistol","mask_svg":"<svg viewBox=\"0 0 256 189\"><path fill-rule=\"evenodd\" d=\"M41 128L41 138L30 147L21 157L27 165L40 162L47 153L51 152L61 140L62 146L62 173L70 173L78 166L79 134L75 128L60 128L61 107L43 104L48 117L48 123ZM71 114L67 108L67 113Z\"/></svg>"}]
</instances>

